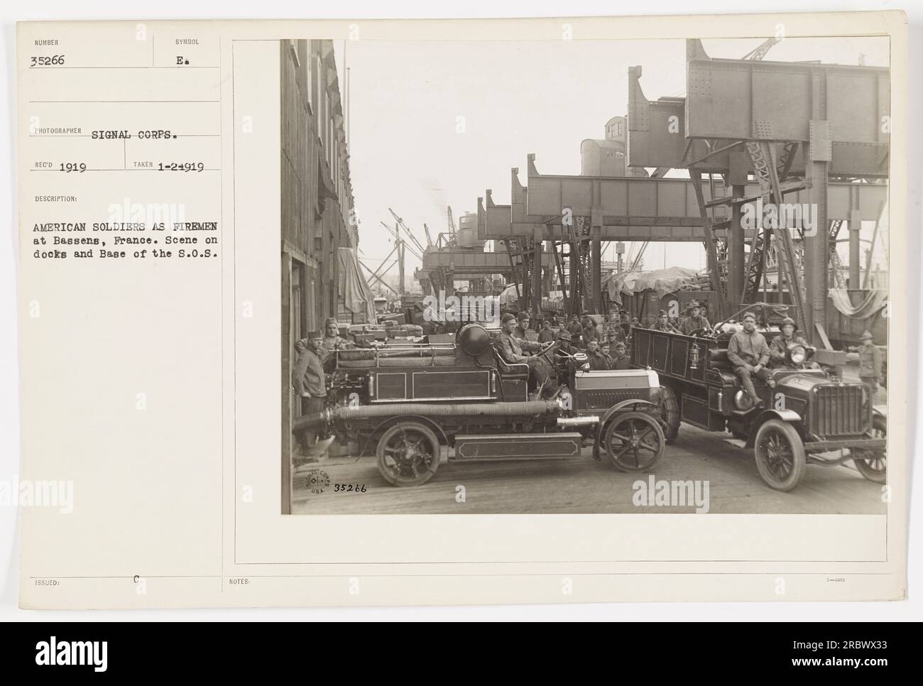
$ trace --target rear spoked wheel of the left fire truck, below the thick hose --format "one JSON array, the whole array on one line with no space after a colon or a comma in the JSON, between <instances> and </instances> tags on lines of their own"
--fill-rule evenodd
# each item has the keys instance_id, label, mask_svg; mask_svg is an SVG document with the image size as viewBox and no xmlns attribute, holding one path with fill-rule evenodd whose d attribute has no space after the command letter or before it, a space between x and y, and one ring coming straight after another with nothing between
<instances>
[{"instance_id":1,"label":"rear spoked wheel of the left fire truck, below the thick hose","mask_svg":"<svg viewBox=\"0 0 923 686\"><path fill-rule=\"evenodd\" d=\"M439 439L416 422L390 427L378 440L378 471L391 486L426 484L439 468Z\"/></svg>"}]
</instances>

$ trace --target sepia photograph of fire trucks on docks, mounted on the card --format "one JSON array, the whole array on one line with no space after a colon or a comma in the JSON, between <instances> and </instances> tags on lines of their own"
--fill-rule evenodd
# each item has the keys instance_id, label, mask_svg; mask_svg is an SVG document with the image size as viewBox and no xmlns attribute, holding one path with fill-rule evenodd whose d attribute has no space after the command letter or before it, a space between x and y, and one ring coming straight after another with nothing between
<instances>
[{"instance_id":1,"label":"sepia photograph of fire trucks on docks, mounted on the card","mask_svg":"<svg viewBox=\"0 0 923 686\"><path fill-rule=\"evenodd\" d=\"M280 41L282 514L884 514L891 44L773 29Z\"/></svg>"}]
</instances>

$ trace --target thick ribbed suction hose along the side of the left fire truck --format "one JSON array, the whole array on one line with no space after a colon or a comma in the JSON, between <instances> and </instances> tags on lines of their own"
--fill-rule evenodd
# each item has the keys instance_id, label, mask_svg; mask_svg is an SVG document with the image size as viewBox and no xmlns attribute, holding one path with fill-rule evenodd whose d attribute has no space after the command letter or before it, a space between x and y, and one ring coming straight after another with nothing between
<instances>
[{"instance_id":1,"label":"thick ribbed suction hose along the side of the left fire truck","mask_svg":"<svg viewBox=\"0 0 923 686\"><path fill-rule=\"evenodd\" d=\"M556 401L534 400L525 403L388 403L378 405L357 405L354 407L335 405L324 412L300 416L294 420L292 433L306 429L324 427L336 421L416 415L438 416L541 416L557 415L561 405Z\"/></svg>"}]
</instances>

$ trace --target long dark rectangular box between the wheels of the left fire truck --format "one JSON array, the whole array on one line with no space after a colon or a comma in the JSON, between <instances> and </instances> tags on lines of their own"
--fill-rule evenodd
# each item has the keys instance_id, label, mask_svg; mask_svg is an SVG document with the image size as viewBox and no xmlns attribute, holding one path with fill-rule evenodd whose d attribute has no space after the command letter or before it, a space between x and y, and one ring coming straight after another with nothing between
<instances>
[{"instance_id":1,"label":"long dark rectangular box between the wheels of the left fire truck","mask_svg":"<svg viewBox=\"0 0 923 686\"><path fill-rule=\"evenodd\" d=\"M546 434L469 434L455 437L450 462L580 457L577 432Z\"/></svg>"}]
</instances>

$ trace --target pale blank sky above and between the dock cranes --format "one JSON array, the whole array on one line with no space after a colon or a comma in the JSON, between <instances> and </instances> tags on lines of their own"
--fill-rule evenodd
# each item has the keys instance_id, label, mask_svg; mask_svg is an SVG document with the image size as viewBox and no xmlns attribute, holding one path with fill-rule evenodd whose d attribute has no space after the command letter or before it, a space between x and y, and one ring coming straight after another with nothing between
<instances>
[{"instance_id":1,"label":"pale blank sky above and between the dock cranes","mask_svg":"<svg viewBox=\"0 0 923 686\"><path fill-rule=\"evenodd\" d=\"M740 58L760 43L703 42L708 54L725 58ZM350 70L360 259L373 269L393 247L379 223L393 223L389 207L426 244L423 223L434 239L446 231L447 205L457 221L476 211L485 188L497 204L508 204L510 167L520 168L526 184L530 152L541 174L579 175L581 141L603 138L605 122L626 114L629 66L643 67L649 100L686 94L684 41L361 40L339 42L335 50L338 69ZM860 55L868 66L888 66L887 39L786 39L766 59L857 65ZM409 281L419 260L409 252L407 258ZM704 251L699 244L652 243L644 264L699 268Z\"/></svg>"}]
</instances>

